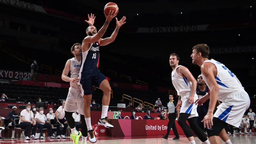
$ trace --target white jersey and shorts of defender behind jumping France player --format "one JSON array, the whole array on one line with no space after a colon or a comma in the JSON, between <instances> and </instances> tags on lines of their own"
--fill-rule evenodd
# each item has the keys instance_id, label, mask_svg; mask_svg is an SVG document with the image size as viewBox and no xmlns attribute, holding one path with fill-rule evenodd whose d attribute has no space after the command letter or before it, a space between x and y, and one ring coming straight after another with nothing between
<instances>
[{"instance_id":1,"label":"white jersey and shorts of defender behind jumping France player","mask_svg":"<svg viewBox=\"0 0 256 144\"><path fill-rule=\"evenodd\" d=\"M75 58L72 58L70 60L70 77L78 77L81 62L78 62L77 60L75 60ZM72 82L70 82L68 97L64 110L67 112L75 112L76 110L78 110L78 113L84 115L84 98L81 97L81 89L78 84L73 84Z\"/></svg>"}]
</instances>

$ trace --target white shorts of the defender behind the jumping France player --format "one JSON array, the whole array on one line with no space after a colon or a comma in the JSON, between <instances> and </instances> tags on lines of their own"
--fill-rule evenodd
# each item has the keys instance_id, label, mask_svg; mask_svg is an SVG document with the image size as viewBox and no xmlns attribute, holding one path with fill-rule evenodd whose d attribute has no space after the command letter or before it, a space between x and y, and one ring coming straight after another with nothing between
<instances>
[{"instance_id":1,"label":"white shorts of the defender behind the jumping France player","mask_svg":"<svg viewBox=\"0 0 256 144\"><path fill-rule=\"evenodd\" d=\"M67 112L76 112L84 115L84 98L81 97L81 90L70 87L68 89L68 97L65 103L64 110Z\"/></svg>"}]
</instances>

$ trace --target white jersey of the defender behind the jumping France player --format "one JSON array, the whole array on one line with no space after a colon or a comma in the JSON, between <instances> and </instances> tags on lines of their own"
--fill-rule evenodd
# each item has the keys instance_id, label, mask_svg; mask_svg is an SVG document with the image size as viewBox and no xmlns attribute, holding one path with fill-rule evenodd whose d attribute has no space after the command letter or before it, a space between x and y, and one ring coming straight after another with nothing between
<instances>
[{"instance_id":1,"label":"white jersey of the defender behind the jumping France player","mask_svg":"<svg viewBox=\"0 0 256 144\"><path fill-rule=\"evenodd\" d=\"M81 62L77 61L75 58L72 58L70 60L71 60L70 69L69 69L70 77L71 78L78 77L79 70L81 67ZM70 82L70 86L75 87L75 88L79 87L78 84L73 84L72 82Z\"/></svg>"}]
</instances>

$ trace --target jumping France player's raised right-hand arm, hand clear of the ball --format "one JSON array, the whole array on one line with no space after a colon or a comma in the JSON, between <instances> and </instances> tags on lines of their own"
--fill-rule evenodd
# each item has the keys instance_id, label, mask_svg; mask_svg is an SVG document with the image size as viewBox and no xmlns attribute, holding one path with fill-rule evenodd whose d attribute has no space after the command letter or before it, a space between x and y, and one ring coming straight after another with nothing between
<instances>
[{"instance_id":1,"label":"jumping France player's raised right-hand arm, hand clear of the ball","mask_svg":"<svg viewBox=\"0 0 256 144\"><path fill-rule=\"evenodd\" d=\"M123 18L119 21L116 18L116 29L114 30L114 32L112 33L112 35L110 37L100 39L101 46L114 42L114 40L116 39L116 36L118 34L119 28L126 23L125 20L126 20L125 16L123 16Z\"/></svg>"}]
</instances>

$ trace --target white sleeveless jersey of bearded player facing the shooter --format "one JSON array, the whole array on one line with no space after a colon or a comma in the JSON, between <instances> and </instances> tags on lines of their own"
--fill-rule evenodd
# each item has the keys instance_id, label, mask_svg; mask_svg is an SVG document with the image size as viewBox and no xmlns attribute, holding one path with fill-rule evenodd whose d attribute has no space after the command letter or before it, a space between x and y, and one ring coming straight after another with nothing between
<instances>
[{"instance_id":1,"label":"white sleeveless jersey of bearded player facing the shooter","mask_svg":"<svg viewBox=\"0 0 256 144\"><path fill-rule=\"evenodd\" d=\"M177 68L179 67L183 67L183 66L179 65ZM176 72L177 68L175 68L172 71L172 85L176 89L178 95L182 97L190 94L192 82L188 81L187 77L182 77L178 75Z\"/></svg>"}]
</instances>

